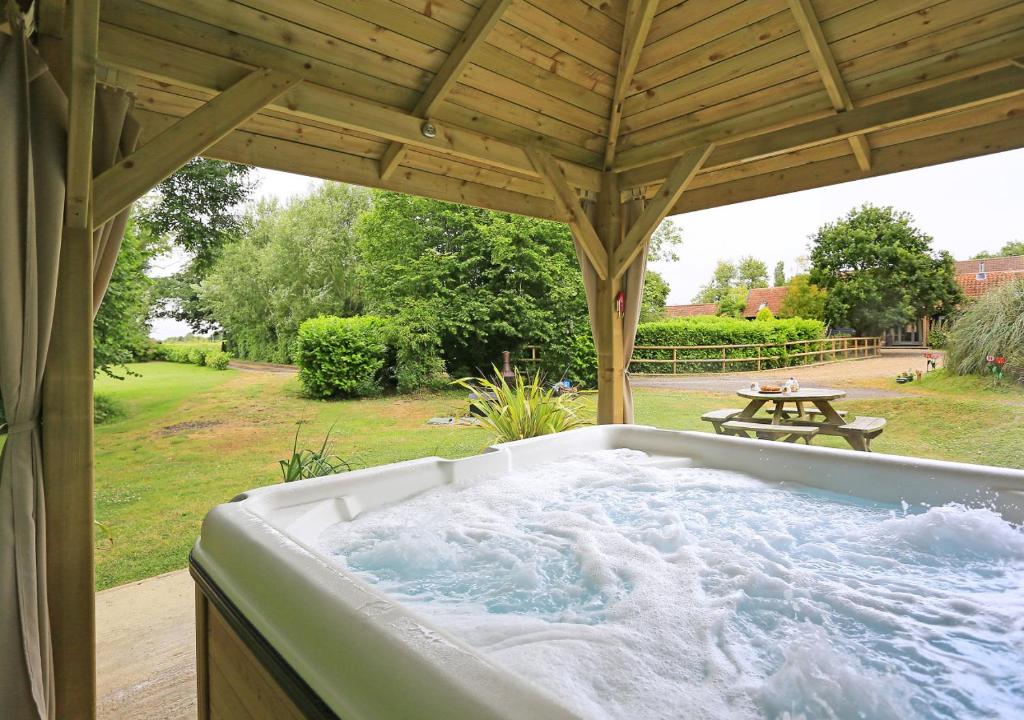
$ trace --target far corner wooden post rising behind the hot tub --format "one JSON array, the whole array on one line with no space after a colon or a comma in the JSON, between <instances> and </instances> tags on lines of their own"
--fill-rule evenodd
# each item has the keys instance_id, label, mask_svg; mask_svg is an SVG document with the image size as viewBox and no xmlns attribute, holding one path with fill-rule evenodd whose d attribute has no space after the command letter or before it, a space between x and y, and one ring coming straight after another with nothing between
<instances>
[{"instance_id":1,"label":"far corner wooden post rising behind the hot tub","mask_svg":"<svg viewBox=\"0 0 1024 720\"><path fill-rule=\"evenodd\" d=\"M608 258L615 255L623 240L618 176L606 172L601 177L595 229ZM597 422L621 423L625 411L626 362L623 356L623 317L615 311L615 296L623 289L622 274L612 271L597 281Z\"/></svg>"}]
</instances>

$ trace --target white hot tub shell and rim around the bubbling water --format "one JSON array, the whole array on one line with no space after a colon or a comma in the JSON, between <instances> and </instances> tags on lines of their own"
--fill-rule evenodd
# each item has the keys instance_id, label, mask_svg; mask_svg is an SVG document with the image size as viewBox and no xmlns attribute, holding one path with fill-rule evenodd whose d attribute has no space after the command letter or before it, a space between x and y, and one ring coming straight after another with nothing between
<instances>
[{"instance_id":1,"label":"white hot tub shell and rim around the bubbling water","mask_svg":"<svg viewBox=\"0 0 1024 720\"><path fill-rule=\"evenodd\" d=\"M263 649L255 654L267 672L256 682L279 682L274 669L288 671L276 691L284 688L298 716L575 717L558 698L325 557L314 541L332 524L443 483L616 449L641 451L645 462L662 466L734 470L886 503L984 506L1011 522L1024 521L1024 472L1018 470L601 426L495 446L461 460L424 458L246 493L215 508L203 523L191 555L199 601L233 618L234 632L249 649ZM208 717L211 703L224 708L229 702L209 682L209 638L201 636L199 647L200 711Z\"/></svg>"}]
</instances>

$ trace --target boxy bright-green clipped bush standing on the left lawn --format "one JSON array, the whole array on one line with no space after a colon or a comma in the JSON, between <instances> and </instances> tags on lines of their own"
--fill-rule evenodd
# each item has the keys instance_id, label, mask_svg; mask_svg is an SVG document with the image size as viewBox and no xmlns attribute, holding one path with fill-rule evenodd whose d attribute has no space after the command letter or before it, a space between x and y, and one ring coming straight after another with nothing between
<instances>
[{"instance_id":1,"label":"boxy bright-green clipped bush standing on the left lawn","mask_svg":"<svg viewBox=\"0 0 1024 720\"><path fill-rule=\"evenodd\" d=\"M312 397L360 397L381 391L388 359L381 317L321 315L299 326L299 382Z\"/></svg>"}]
</instances>

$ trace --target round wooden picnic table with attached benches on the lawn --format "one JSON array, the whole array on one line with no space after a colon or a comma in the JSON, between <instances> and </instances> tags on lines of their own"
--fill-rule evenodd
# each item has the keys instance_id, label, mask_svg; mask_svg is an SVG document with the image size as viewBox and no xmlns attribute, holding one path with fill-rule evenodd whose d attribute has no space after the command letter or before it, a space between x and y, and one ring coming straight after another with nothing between
<instances>
[{"instance_id":1,"label":"round wooden picnic table with attached benches on the lawn","mask_svg":"<svg viewBox=\"0 0 1024 720\"><path fill-rule=\"evenodd\" d=\"M764 392L742 389L736 392L750 400L739 412L715 411L705 416L715 425L717 432L739 434L750 437L750 433L760 438L783 439L795 442L803 438L810 442L815 434L843 437L854 450L870 450L870 440L877 437L886 425L883 418L866 416L850 420L846 413L836 410L833 400L846 397L846 392L824 387L802 387L793 392ZM758 415L762 408L772 404L770 417ZM813 406L813 410L808 409ZM786 429L793 432L785 432Z\"/></svg>"}]
</instances>

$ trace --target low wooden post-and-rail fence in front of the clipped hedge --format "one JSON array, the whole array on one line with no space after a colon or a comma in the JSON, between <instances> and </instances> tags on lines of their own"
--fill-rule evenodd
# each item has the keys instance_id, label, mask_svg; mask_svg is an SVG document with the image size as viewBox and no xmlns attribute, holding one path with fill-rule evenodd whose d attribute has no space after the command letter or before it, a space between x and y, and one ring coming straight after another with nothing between
<instances>
[{"instance_id":1,"label":"low wooden post-and-rail fence in front of the clipped hedge","mask_svg":"<svg viewBox=\"0 0 1024 720\"><path fill-rule=\"evenodd\" d=\"M540 347L528 345L520 362L537 365ZM821 338L740 345L637 345L630 369L645 375L680 375L728 370L774 370L882 354L881 337ZM696 355L696 356L694 356Z\"/></svg>"}]
</instances>

